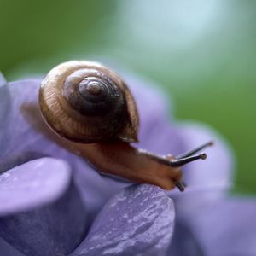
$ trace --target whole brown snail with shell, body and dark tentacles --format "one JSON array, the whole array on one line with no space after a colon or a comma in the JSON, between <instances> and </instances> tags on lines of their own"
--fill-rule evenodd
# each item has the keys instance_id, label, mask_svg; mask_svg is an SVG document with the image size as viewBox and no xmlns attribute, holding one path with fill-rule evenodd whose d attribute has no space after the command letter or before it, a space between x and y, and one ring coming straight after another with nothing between
<instances>
[{"instance_id":1,"label":"whole brown snail with shell, body and dark tentacles","mask_svg":"<svg viewBox=\"0 0 256 256\"><path fill-rule=\"evenodd\" d=\"M100 172L184 190L181 166L206 154L199 148L175 158L134 148L139 125L136 103L125 82L108 67L90 61L68 61L43 80L39 105L46 123L68 148Z\"/></svg>"}]
</instances>

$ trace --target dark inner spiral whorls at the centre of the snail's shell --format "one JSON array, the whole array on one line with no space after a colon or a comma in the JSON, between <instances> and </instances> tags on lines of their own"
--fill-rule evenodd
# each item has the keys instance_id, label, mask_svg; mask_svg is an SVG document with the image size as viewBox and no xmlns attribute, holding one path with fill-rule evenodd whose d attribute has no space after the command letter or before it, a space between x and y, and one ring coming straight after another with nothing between
<instances>
[{"instance_id":1,"label":"dark inner spiral whorls at the centre of the snail's shell","mask_svg":"<svg viewBox=\"0 0 256 256\"><path fill-rule=\"evenodd\" d=\"M75 111L85 116L104 117L125 110L125 98L118 85L96 69L84 68L70 74L62 95Z\"/></svg>"}]
</instances>

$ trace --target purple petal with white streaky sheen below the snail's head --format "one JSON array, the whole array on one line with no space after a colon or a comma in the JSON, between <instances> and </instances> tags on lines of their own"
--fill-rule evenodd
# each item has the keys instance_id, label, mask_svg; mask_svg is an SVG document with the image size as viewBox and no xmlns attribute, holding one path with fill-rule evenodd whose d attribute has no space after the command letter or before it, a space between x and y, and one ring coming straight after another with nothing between
<instances>
[{"instance_id":1,"label":"purple petal with white streaky sheen below the snail's head","mask_svg":"<svg viewBox=\"0 0 256 256\"><path fill-rule=\"evenodd\" d=\"M108 201L73 256L165 255L174 216L162 189L133 185Z\"/></svg>"}]
</instances>

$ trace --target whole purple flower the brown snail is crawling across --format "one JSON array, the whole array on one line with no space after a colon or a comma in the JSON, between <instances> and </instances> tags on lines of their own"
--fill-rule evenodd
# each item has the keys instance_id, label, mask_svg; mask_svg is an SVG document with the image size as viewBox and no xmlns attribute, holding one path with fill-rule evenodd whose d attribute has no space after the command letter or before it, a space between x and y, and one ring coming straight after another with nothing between
<instances>
[{"instance_id":1,"label":"whole purple flower the brown snail is crawling across","mask_svg":"<svg viewBox=\"0 0 256 256\"><path fill-rule=\"evenodd\" d=\"M171 125L158 91L125 80L141 119L138 147L175 155L216 142L206 161L183 168L189 188L100 175L44 124L39 79L1 77L1 256L255 255L256 203L227 195L233 160L223 140L202 125Z\"/></svg>"}]
</instances>

